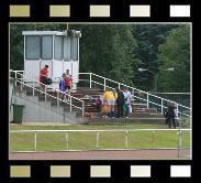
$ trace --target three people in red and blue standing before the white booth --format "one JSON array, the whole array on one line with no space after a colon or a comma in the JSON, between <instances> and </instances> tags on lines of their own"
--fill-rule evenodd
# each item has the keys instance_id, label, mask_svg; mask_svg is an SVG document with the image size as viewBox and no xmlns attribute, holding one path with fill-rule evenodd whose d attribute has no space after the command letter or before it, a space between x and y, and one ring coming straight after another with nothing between
<instances>
[{"instance_id":1,"label":"three people in red and blue standing before the white booth","mask_svg":"<svg viewBox=\"0 0 201 183\"><path fill-rule=\"evenodd\" d=\"M47 84L48 79L48 65L45 65L42 69L41 69L41 74L40 74L40 83L41 83L41 90L42 94L45 93L45 85ZM60 89L60 98L69 101L70 100L70 90L72 87L72 77L69 74L69 69L66 69L66 73L63 73L62 77L59 78L59 89ZM66 95L67 94L67 98Z\"/></svg>"}]
</instances>

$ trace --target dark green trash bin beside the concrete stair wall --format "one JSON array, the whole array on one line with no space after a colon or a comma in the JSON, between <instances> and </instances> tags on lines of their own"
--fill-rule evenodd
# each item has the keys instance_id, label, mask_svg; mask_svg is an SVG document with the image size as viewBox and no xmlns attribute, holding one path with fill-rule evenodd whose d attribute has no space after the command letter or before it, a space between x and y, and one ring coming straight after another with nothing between
<instances>
[{"instance_id":1,"label":"dark green trash bin beside the concrete stair wall","mask_svg":"<svg viewBox=\"0 0 201 183\"><path fill-rule=\"evenodd\" d=\"M24 105L12 104L13 106L13 123L22 123Z\"/></svg>"}]
</instances>

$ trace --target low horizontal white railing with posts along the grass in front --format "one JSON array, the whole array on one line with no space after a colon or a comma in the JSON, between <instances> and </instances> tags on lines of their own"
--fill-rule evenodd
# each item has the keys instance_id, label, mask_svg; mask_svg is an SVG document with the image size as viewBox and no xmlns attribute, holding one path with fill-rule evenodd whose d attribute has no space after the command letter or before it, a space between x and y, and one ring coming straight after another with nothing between
<instances>
[{"instance_id":1,"label":"low horizontal white railing with posts along the grass in front","mask_svg":"<svg viewBox=\"0 0 201 183\"><path fill-rule=\"evenodd\" d=\"M125 149L122 150L129 150L127 144L129 144L129 132L136 132L136 131L147 131L152 132L152 149L155 148L155 134L157 131L177 131L178 133L178 157L180 157L180 150L181 148L181 133L182 131L191 131L191 129L113 129L113 130L10 130L11 133L19 133L19 132L34 132L34 150L37 151L37 133L38 132L65 132L66 133L66 150L69 150L68 144L69 144L69 138L68 133L71 132L97 132L97 150L99 150L99 142L100 142L100 132L125 132ZM159 148L157 148L159 149ZM165 148L163 148L165 149ZM168 148L169 149L169 148ZM105 150L105 149L104 149ZM109 150L109 149L108 149ZM76 150L75 150L76 151Z\"/></svg>"}]
</instances>

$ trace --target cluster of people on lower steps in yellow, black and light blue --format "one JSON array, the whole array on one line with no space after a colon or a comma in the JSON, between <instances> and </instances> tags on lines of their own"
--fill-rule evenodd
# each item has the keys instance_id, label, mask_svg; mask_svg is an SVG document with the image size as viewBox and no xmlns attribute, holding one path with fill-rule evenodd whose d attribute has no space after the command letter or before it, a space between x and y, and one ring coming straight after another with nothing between
<instances>
[{"instance_id":1,"label":"cluster of people on lower steps in yellow, black and light blue","mask_svg":"<svg viewBox=\"0 0 201 183\"><path fill-rule=\"evenodd\" d=\"M107 110L103 110L105 117L114 118L115 104L118 106L118 118L123 118L124 110L125 110L125 118L129 118L131 93L127 90L127 88L124 88L124 92L121 90L120 88L115 88L114 93L108 90L104 92L102 108L103 109L105 107L108 108L108 114L105 114Z\"/></svg>"}]
</instances>

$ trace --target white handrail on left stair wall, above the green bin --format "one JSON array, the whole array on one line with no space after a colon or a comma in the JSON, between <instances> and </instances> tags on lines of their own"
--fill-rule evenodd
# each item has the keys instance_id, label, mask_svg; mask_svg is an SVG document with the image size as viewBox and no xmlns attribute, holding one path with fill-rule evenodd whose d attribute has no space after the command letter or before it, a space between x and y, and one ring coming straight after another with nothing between
<instances>
[{"instance_id":1,"label":"white handrail on left stair wall, above the green bin","mask_svg":"<svg viewBox=\"0 0 201 183\"><path fill-rule=\"evenodd\" d=\"M52 97L52 98L55 98L55 99L57 99L57 100L59 100L59 101L63 101L63 103L65 103L65 104L68 104L68 105L70 105L70 111L71 111L71 106L72 107L76 107L76 108L78 108L78 109L80 109L80 110L82 110L82 117L85 116L85 101L83 100L81 100L81 99L79 99L79 98L76 98L76 97L74 97L74 96L71 96L71 95L68 95L68 94L64 94L64 93L62 93L60 90L58 90L58 89L55 89L55 88L53 88L53 87L49 87L48 85L45 85L45 84L43 84L43 83L41 83L41 82L38 82L38 80L36 80L36 79L34 79L34 78L32 78L32 77L30 77L30 76L26 76L26 75L24 75L24 74L20 74L19 72L22 72L22 73L24 73L23 71L10 71L10 72L13 72L13 73L15 73L15 79L19 82L19 79L20 80L22 80L22 79L24 79L24 77L26 77L26 78L29 78L29 79L31 79L32 82L35 82L35 83L37 83L37 84L42 84L42 85L44 85L45 86L45 100L46 100L46 96L49 96L49 97ZM16 75L20 75L21 76L21 78L16 78ZM22 78L23 77L23 78ZM37 92L42 92L42 90L40 90L40 89L37 89L37 88L35 88L34 86L30 86L30 85L27 85L27 84L25 84L25 83L22 83L22 82L19 82L19 83L21 83L21 88L22 88L22 85L25 85L25 86L29 86L29 87L31 87L31 88L33 88L34 90L37 90ZM49 95L49 94L47 94L47 87L48 88L51 88L51 89L54 89L57 94L59 93L59 94L64 94L65 96L69 96L70 97L70 101L68 103L68 101L65 101L65 100L62 100L59 97L55 97L55 96L53 96L53 95ZM71 104L71 99L76 99L76 100L79 100L79 101L81 101L82 104L82 108L80 108L80 107L78 107L78 106L76 106L76 105L72 105Z\"/></svg>"}]
</instances>

